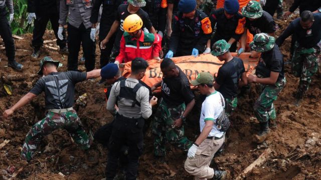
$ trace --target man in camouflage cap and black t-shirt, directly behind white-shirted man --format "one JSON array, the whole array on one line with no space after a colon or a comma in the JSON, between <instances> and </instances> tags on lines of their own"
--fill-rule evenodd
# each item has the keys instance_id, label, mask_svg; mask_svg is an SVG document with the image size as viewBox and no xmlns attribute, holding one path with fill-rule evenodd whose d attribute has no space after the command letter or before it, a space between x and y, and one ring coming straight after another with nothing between
<instances>
[{"instance_id":1,"label":"man in camouflage cap and black t-shirt, directly behind white-shirted man","mask_svg":"<svg viewBox=\"0 0 321 180\"><path fill-rule=\"evenodd\" d=\"M224 61L218 70L214 87L225 98L225 113L228 116L236 109L238 87L247 85L243 60L231 55L230 45L224 39L218 40L214 43L212 51L212 54L217 56L220 61Z\"/></svg>"}]
</instances>

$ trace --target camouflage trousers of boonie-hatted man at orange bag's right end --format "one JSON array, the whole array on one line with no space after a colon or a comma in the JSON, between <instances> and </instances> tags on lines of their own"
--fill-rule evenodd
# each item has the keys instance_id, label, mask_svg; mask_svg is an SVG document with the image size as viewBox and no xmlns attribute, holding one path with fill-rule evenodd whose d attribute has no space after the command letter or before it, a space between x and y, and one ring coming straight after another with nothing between
<instances>
[{"instance_id":1,"label":"camouflage trousers of boonie-hatted man at orange bag's right end","mask_svg":"<svg viewBox=\"0 0 321 180\"><path fill-rule=\"evenodd\" d=\"M273 101L286 83L285 77L274 85L263 85L263 91L254 104L254 113L259 122L266 122L276 118Z\"/></svg>"}]
</instances>

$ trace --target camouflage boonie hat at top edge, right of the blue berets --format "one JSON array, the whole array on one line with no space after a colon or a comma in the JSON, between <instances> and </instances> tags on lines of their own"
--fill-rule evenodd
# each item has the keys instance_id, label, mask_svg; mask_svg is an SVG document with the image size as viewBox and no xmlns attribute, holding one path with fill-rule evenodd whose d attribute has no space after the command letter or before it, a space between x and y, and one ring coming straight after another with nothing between
<instances>
[{"instance_id":1,"label":"camouflage boonie hat at top edge, right of the blue berets","mask_svg":"<svg viewBox=\"0 0 321 180\"><path fill-rule=\"evenodd\" d=\"M251 0L242 8L242 15L248 18L259 18L263 14L263 9L260 2Z\"/></svg>"}]
</instances>

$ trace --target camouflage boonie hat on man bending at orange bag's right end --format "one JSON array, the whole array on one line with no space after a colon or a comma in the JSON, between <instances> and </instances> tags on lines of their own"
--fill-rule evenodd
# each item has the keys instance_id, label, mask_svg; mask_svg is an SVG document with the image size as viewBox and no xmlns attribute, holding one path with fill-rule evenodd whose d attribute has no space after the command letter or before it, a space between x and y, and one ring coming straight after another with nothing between
<instances>
[{"instance_id":1,"label":"camouflage boonie hat on man bending at orange bag's right end","mask_svg":"<svg viewBox=\"0 0 321 180\"><path fill-rule=\"evenodd\" d=\"M254 35L253 41L249 44L251 50L265 52L274 47L275 38L267 33L258 33Z\"/></svg>"}]
</instances>

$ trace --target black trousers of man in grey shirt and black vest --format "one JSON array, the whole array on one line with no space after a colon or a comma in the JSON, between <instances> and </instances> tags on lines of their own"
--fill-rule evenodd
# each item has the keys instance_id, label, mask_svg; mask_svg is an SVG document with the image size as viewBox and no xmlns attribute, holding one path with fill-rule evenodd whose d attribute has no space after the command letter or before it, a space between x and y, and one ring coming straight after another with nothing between
<instances>
[{"instance_id":1,"label":"black trousers of man in grey shirt and black vest","mask_svg":"<svg viewBox=\"0 0 321 180\"><path fill-rule=\"evenodd\" d=\"M109 139L108 161L106 166L106 180L112 180L116 175L118 158L124 144L128 145L128 164L126 180L136 179L138 158L143 150L143 118L126 118L116 115Z\"/></svg>"}]
</instances>

